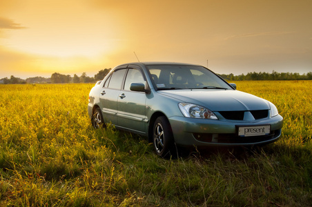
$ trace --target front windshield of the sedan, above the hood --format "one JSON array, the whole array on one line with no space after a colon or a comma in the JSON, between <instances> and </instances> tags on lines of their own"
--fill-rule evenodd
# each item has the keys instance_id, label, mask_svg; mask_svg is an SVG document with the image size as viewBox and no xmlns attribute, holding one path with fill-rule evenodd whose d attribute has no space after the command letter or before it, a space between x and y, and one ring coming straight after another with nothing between
<instances>
[{"instance_id":1,"label":"front windshield of the sedan, above the hood","mask_svg":"<svg viewBox=\"0 0 312 207\"><path fill-rule=\"evenodd\" d=\"M158 90L233 89L202 66L150 65L147 68Z\"/></svg>"}]
</instances>

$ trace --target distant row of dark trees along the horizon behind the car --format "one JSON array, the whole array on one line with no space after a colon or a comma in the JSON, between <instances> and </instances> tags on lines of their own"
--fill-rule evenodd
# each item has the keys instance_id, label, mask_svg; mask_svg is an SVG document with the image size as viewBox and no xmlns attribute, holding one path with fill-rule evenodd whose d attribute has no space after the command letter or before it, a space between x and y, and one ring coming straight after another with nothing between
<instances>
[{"instance_id":1,"label":"distant row of dark trees along the horizon behind the car","mask_svg":"<svg viewBox=\"0 0 312 207\"><path fill-rule=\"evenodd\" d=\"M14 84L14 83L95 83L96 81L101 81L110 72L110 68L105 68L104 70L99 70L99 72L94 77L88 77L86 72L83 72L81 76L74 75L63 75L55 72L50 78L45 77L30 77L26 80L14 77L11 75L10 79L7 77L0 79L0 83L4 84ZM220 74L218 74L220 75ZM298 72L276 72L273 70L272 73L269 72L248 72L246 75L233 75L233 73L226 75L220 75L223 79L227 81L289 81L289 80L312 80L312 72L304 73L300 75Z\"/></svg>"}]
</instances>

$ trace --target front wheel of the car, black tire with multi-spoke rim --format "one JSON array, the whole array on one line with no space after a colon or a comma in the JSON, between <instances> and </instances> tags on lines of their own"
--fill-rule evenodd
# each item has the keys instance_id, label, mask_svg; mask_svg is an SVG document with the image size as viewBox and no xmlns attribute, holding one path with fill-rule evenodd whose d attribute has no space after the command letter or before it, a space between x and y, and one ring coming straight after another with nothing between
<instances>
[{"instance_id":1,"label":"front wheel of the car, black tire with multi-spoke rim","mask_svg":"<svg viewBox=\"0 0 312 207\"><path fill-rule=\"evenodd\" d=\"M175 141L170 123L166 117L157 117L153 126L153 146L157 155L170 157L175 155Z\"/></svg>"}]
</instances>

